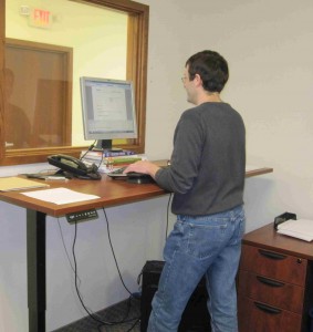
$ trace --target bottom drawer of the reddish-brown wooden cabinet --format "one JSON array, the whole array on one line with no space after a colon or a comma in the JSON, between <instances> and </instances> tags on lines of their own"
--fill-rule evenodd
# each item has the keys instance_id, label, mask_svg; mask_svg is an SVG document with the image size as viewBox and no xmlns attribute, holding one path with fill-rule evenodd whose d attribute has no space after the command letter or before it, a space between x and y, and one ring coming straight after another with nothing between
<instances>
[{"instance_id":1,"label":"bottom drawer of the reddish-brown wooden cabinet","mask_svg":"<svg viewBox=\"0 0 313 332\"><path fill-rule=\"evenodd\" d=\"M301 315L239 297L240 332L300 332Z\"/></svg>"}]
</instances>

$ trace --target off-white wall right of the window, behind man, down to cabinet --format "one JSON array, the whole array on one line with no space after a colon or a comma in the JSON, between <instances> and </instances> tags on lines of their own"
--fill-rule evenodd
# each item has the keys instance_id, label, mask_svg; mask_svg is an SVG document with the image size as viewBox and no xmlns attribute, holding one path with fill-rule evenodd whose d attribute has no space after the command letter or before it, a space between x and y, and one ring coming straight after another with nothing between
<instances>
[{"instance_id":1,"label":"off-white wall right of the window, behind man, down to cabinet","mask_svg":"<svg viewBox=\"0 0 313 332\"><path fill-rule=\"evenodd\" d=\"M187 58L219 51L230 68L223 100L247 125L248 163L274 168L247 180L247 230L286 210L312 218L312 1L171 0L166 6L150 6L149 154L170 153L173 127L189 106L180 82Z\"/></svg>"}]
</instances>

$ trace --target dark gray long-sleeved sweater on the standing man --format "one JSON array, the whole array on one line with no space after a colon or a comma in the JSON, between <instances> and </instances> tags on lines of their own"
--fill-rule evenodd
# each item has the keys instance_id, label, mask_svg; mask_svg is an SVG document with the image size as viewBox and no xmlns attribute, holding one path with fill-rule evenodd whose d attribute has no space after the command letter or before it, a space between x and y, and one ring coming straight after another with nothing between
<instances>
[{"instance_id":1,"label":"dark gray long-sleeved sweater on the standing man","mask_svg":"<svg viewBox=\"0 0 313 332\"><path fill-rule=\"evenodd\" d=\"M185 111L170 163L157 172L156 181L174 193L174 214L204 216L243 204L246 129L240 114L226 103Z\"/></svg>"}]
</instances>

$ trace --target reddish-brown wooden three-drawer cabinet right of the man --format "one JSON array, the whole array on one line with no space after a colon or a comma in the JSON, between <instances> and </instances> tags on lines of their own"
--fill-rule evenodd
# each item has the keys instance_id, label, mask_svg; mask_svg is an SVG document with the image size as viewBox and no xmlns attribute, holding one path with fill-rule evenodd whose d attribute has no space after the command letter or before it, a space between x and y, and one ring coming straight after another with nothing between
<instances>
[{"instance_id":1,"label":"reddish-brown wooden three-drawer cabinet right of the man","mask_svg":"<svg viewBox=\"0 0 313 332\"><path fill-rule=\"evenodd\" d=\"M313 245L268 225L244 236L238 278L240 332L309 332Z\"/></svg>"}]
</instances>

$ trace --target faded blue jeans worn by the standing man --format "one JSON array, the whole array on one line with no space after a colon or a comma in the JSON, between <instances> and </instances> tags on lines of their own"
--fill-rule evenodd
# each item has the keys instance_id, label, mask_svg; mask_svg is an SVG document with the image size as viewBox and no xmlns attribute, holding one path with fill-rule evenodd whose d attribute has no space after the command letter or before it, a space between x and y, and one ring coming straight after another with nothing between
<instances>
[{"instance_id":1,"label":"faded blue jeans worn by the standing man","mask_svg":"<svg viewBox=\"0 0 313 332\"><path fill-rule=\"evenodd\" d=\"M153 299L148 332L176 332L185 307L206 277L212 332L237 332L236 274L244 211L239 206L210 216L177 216Z\"/></svg>"}]
</instances>

